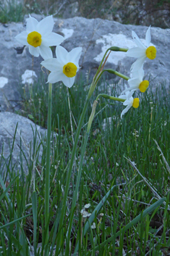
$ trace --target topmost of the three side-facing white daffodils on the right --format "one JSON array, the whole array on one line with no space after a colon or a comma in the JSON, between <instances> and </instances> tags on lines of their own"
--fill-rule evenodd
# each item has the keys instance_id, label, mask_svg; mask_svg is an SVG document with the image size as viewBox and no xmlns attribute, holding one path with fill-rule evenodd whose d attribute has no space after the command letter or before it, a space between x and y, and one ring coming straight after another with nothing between
<instances>
[{"instance_id":1,"label":"topmost of the three side-facing white daffodils on the right","mask_svg":"<svg viewBox=\"0 0 170 256\"><path fill-rule=\"evenodd\" d=\"M131 67L131 70L135 71L143 67L143 62L145 61L145 58L156 58L156 47L150 46L150 27L146 31L145 35L146 46L140 41L140 38L138 38L137 34L134 31L132 31L132 38L135 41L135 44L137 44L137 47L129 49L127 51L127 56L137 58L137 60L132 64Z\"/></svg>"}]
</instances>

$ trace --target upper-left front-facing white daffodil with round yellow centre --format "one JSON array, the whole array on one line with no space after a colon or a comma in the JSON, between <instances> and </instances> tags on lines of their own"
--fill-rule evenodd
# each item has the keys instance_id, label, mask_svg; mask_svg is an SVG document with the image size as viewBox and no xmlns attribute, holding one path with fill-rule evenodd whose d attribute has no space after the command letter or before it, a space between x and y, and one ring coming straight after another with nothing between
<instances>
[{"instance_id":1,"label":"upper-left front-facing white daffodil with round yellow centre","mask_svg":"<svg viewBox=\"0 0 170 256\"><path fill-rule=\"evenodd\" d=\"M49 46L58 46L64 41L64 37L52 32L54 20L52 15L38 22L34 17L27 19L26 31L15 36L20 44L29 46L30 54L43 59L53 57Z\"/></svg>"}]
</instances>

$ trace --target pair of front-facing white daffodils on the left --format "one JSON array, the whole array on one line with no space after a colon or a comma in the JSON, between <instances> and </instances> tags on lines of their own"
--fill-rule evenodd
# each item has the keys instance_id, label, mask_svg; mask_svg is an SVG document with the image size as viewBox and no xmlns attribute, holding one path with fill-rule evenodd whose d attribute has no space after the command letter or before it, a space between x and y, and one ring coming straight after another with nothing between
<instances>
[{"instance_id":1,"label":"pair of front-facing white daffodils on the left","mask_svg":"<svg viewBox=\"0 0 170 256\"><path fill-rule=\"evenodd\" d=\"M41 22L30 16L27 19L26 31L15 38L20 44L28 46L30 54L33 56L38 57L41 54L44 59L41 65L51 72L48 75L47 83L62 81L65 86L70 88L75 82L75 75L80 68L78 62L82 47L67 52L66 49L59 46L64 41L64 37L53 33L53 28L52 15L44 18ZM56 46L56 58L53 58L50 46Z\"/></svg>"}]
</instances>

